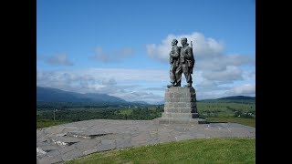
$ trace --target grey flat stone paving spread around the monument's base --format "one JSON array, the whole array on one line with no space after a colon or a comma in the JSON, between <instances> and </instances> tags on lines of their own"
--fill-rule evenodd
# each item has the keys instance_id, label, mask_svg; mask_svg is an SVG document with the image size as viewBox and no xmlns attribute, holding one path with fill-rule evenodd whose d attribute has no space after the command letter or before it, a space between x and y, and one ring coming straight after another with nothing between
<instances>
[{"instance_id":1,"label":"grey flat stone paving spread around the monument's base","mask_svg":"<svg viewBox=\"0 0 292 164\"><path fill-rule=\"evenodd\" d=\"M36 163L62 163L94 152L192 138L251 137L236 123L158 124L155 120L92 119L36 129Z\"/></svg>"}]
</instances>

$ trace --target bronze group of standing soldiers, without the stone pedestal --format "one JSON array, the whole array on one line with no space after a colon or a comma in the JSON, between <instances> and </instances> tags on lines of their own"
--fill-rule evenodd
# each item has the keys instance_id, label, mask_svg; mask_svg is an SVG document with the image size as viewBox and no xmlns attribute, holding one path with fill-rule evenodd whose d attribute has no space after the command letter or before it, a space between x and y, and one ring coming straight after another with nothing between
<instances>
[{"instance_id":1,"label":"bronze group of standing soldiers, without the stone pedestal","mask_svg":"<svg viewBox=\"0 0 292 164\"><path fill-rule=\"evenodd\" d=\"M184 87L192 87L193 80L193 47L187 43L187 38L181 39L182 46L177 46L178 41L172 40L172 51L170 52L170 77L171 85L167 87L181 87L182 74L186 79L187 84Z\"/></svg>"}]
</instances>

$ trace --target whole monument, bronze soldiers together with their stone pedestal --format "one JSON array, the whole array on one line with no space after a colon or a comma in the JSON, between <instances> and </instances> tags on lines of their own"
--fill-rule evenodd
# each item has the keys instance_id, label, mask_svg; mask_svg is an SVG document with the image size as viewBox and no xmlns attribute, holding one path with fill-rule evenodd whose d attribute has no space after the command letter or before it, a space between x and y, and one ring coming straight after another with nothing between
<instances>
[{"instance_id":1,"label":"whole monument, bronze soldiers together with their stone pedestal","mask_svg":"<svg viewBox=\"0 0 292 164\"><path fill-rule=\"evenodd\" d=\"M196 93L193 84L193 45L187 43L187 38L181 39L182 47L177 46L178 41L172 40L170 52L170 78L171 84L165 89L164 112L158 118L162 124L203 124L206 120L199 118L196 105ZM186 85L181 87L182 74Z\"/></svg>"}]
</instances>

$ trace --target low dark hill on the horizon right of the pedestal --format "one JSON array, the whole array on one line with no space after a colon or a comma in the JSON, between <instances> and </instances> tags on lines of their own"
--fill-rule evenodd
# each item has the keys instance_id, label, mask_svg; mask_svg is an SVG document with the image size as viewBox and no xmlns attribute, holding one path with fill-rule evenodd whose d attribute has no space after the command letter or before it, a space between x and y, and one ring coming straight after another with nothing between
<instances>
[{"instance_id":1,"label":"low dark hill on the horizon right of the pedestal","mask_svg":"<svg viewBox=\"0 0 292 164\"><path fill-rule=\"evenodd\" d=\"M227 102L227 103L243 103L255 104L255 97L234 96L234 97L220 97L217 99L203 99L199 102Z\"/></svg>"}]
</instances>

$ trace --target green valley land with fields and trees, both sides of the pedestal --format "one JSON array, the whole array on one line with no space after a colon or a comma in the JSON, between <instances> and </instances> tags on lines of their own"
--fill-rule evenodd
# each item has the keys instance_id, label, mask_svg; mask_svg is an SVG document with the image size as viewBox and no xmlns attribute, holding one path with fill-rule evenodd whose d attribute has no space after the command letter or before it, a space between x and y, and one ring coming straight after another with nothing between
<instances>
[{"instance_id":1,"label":"green valley land with fields and trees, both sides of the pedestal","mask_svg":"<svg viewBox=\"0 0 292 164\"><path fill-rule=\"evenodd\" d=\"M54 121L54 108L56 120ZM88 119L151 120L161 118L163 105L108 107L95 104L36 104L36 128ZM255 102L199 101L200 118L215 122L236 122L255 127Z\"/></svg>"}]
</instances>

